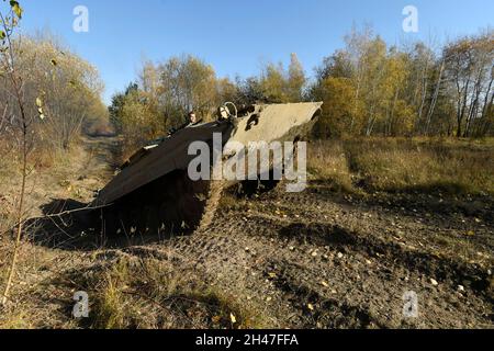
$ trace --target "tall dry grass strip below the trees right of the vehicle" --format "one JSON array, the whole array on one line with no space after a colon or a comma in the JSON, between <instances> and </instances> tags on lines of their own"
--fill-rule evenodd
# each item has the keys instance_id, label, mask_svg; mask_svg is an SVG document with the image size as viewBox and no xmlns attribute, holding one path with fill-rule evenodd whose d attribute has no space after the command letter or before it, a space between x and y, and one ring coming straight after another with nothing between
<instances>
[{"instance_id":1,"label":"tall dry grass strip below the trees right of the vehicle","mask_svg":"<svg viewBox=\"0 0 494 351\"><path fill-rule=\"evenodd\" d=\"M312 146L310 169L335 190L494 194L494 140L318 141Z\"/></svg>"}]
</instances>

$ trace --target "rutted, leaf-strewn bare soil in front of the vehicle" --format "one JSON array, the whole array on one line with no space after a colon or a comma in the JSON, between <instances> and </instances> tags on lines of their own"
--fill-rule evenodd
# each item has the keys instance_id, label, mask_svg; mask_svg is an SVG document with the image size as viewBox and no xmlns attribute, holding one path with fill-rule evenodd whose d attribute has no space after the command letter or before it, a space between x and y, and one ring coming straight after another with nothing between
<instances>
[{"instance_id":1,"label":"rutted, leaf-strewn bare soil in front of the vehicle","mask_svg":"<svg viewBox=\"0 0 494 351\"><path fill-rule=\"evenodd\" d=\"M404 229L413 238L397 240L377 229L389 218L369 224L356 216L357 207L303 193L268 193L250 205L249 211L218 211L207 228L144 251L171 257L178 267L193 264L205 282L266 314L276 328L493 324L485 270L415 245L415 237L428 231ZM276 208L288 215L273 214ZM422 298L417 320L403 317L407 291Z\"/></svg>"}]
</instances>

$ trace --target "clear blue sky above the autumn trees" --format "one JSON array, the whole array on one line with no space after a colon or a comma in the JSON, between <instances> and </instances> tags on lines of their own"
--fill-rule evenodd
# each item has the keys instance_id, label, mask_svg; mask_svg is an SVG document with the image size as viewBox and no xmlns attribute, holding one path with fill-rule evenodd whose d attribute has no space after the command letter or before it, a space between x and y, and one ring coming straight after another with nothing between
<instances>
[{"instance_id":1,"label":"clear blue sky above the autumn trees","mask_svg":"<svg viewBox=\"0 0 494 351\"><path fill-rule=\"evenodd\" d=\"M390 44L445 38L494 24L492 0L22 0L22 30L48 29L98 67L104 100L135 79L143 58L193 54L218 77L259 72L261 63L296 53L308 73L343 46L352 23L370 23ZM402 30L405 5L419 32ZM72 31L76 5L89 10L89 33Z\"/></svg>"}]
</instances>

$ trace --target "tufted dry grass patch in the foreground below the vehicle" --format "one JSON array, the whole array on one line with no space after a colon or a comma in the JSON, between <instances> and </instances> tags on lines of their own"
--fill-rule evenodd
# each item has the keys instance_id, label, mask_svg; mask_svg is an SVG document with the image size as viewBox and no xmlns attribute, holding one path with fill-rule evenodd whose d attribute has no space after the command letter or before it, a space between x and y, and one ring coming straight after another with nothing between
<instances>
[{"instance_id":1,"label":"tufted dry grass patch in the foreground below the vehicle","mask_svg":"<svg viewBox=\"0 0 494 351\"><path fill-rule=\"evenodd\" d=\"M252 328L258 317L205 284L193 269L155 259L123 258L70 281L87 291L97 329ZM232 316L235 317L233 322Z\"/></svg>"}]
</instances>

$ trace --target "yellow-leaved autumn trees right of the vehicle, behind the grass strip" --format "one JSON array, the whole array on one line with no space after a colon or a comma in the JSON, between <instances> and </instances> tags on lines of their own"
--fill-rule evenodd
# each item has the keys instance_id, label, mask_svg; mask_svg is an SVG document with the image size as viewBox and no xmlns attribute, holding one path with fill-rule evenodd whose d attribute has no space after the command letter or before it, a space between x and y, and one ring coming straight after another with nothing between
<instances>
[{"instance_id":1,"label":"yellow-leaved autumn trees right of the vehicle, behind the grass strip","mask_svg":"<svg viewBox=\"0 0 494 351\"><path fill-rule=\"evenodd\" d=\"M321 135L492 135L493 31L440 50L424 43L388 47L370 30L345 42L311 87L311 98L326 102Z\"/></svg>"}]
</instances>

